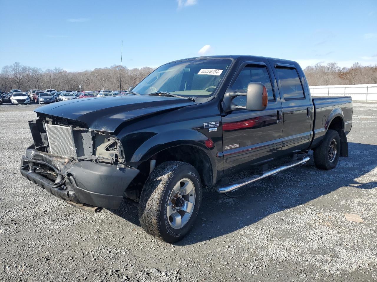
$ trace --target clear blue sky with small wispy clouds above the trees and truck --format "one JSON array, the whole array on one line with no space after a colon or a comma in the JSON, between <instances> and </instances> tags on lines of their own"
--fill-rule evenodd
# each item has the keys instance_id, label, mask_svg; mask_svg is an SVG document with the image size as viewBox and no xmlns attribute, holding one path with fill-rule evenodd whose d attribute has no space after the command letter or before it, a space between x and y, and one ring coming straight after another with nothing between
<instances>
[{"instance_id":1,"label":"clear blue sky with small wispy clouds above the trees and truck","mask_svg":"<svg viewBox=\"0 0 377 282\"><path fill-rule=\"evenodd\" d=\"M200 55L377 64L377 1L0 0L0 68L157 67ZM201 50L201 52L199 52Z\"/></svg>"}]
</instances>

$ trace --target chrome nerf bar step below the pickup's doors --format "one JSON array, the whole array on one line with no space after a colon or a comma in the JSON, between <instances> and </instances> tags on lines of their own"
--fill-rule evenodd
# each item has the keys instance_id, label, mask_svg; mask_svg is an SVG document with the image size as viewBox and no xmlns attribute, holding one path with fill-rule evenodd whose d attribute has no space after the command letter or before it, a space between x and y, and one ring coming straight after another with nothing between
<instances>
[{"instance_id":1,"label":"chrome nerf bar step below the pickup's doors","mask_svg":"<svg viewBox=\"0 0 377 282\"><path fill-rule=\"evenodd\" d=\"M227 185L224 185L224 186L216 187L216 191L218 191L218 193L228 193L228 192L237 190L238 188L240 188L244 185L247 185L247 184L250 184L250 183L255 182L257 180L263 179L267 176L276 174L280 171L286 170L286 169L291 168L291 167L295 167L296 165L305 164L305 162L307 162L309 160L310 160L309 157L305 157L305 158L302 158L302 159L296 159L294 161L289 162L286 165L280 165L280 167L274 167L274 168L271 168L270 170L266 170L262 174L253 175L250 178L242 180L242 182L230 183L230 184L227 184Z\"/></svg>"}]
</instances>

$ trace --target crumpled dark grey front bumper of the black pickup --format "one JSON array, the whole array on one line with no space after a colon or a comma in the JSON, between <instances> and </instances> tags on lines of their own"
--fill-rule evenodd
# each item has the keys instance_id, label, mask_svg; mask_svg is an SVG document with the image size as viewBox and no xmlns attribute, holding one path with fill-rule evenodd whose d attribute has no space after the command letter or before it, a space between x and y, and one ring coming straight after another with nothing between
<instances>
[{"instance_id":1,"label":"crumpled dark grey front bumper of the black pickup","mask_svg":"<svg viewBox=\"0 0 377 282\"><path fill-rule=\"evenodd\" d=\"M35 171L35 165L47 165L57 174L52 181ZM69 202L102 208L119 208L124 191L139 173L133 168L68 158L26 149L21 158L21 174L49 193Z\"/></svg>"}]
</instances>

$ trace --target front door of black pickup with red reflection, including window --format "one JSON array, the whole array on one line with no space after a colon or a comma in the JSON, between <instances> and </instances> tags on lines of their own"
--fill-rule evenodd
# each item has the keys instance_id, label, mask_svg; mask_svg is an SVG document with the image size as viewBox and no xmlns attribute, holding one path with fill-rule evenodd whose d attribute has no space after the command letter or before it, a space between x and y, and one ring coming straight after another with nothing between
<instances>
[{"instance_id":1,"label":"front door of black pickup with red reflection, including window","mask_svg":"<svg viewBox=\"0 0 377 282\"><path fill-rule=\"evenodd\" d=\"M242 170L273 158L282 147L282 112L276 82L271 79L271 69L264 62L245 62L230 84L231 92L245 92L250 82L262 82L267 88L268 104L263 111L237 109L222 117L222 144L224 173ZM276 92L276 94L275 94ZM246 96L237 96L233 103L246 105Z\"/></svg>"}]
</instances>

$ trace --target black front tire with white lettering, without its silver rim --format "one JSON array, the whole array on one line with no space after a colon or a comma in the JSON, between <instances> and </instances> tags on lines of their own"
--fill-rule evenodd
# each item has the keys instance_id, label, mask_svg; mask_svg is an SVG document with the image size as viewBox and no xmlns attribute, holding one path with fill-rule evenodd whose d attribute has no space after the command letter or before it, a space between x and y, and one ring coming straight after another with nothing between
<instances>
[{"instance_id":1,"label":"black front tire with white lettering, without its silver rim","mask_svg":"<svg viewBox=\"0 0 377 282\"><path fill-rule=\"evenodd\" d=\"M195 193L190 196L195 196L195 200L193 200L195 204L193 205L192 212L189 214L188 221L181 228L176 229L172 226L172 217L168 217L167 208L168 205L172 205L171 195L174 192L173 187L178 185L178 183L182 183L180 181L184 179L189 179L194 186ZM141 191L139 200L139 220L141 227L148 234L161 241L175 243L185 237L190 231L198 215L201 200L202 184L198 171L192 165L185 162L164 162L152 171ZM183 214L186 215L184 212Z\"/></svg>"}]
</instances>

